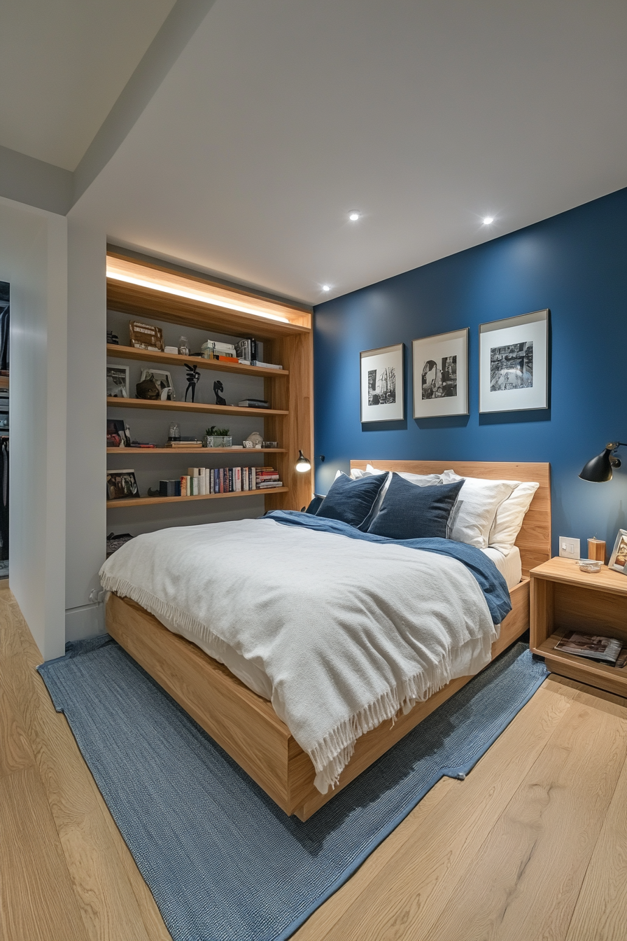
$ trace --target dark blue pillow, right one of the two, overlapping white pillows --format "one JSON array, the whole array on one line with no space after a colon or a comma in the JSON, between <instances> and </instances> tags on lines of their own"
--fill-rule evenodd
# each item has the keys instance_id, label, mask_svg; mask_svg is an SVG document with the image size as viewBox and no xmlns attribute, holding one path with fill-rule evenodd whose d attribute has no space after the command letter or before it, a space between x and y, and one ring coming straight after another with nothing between
<instances>
[{"instance_id":1,"label":"dark blue pillow, right one of the two, overlapping white pillows","mask_svg":"<svg viewBox=\"0 0 627 941\"><path fill-rule=\"evenodd\" d=\"M463 481L440 486L416 486L392 474L381 509L368 533L389 539L447 538L447 522Z\"/></svg>"}]
</instances>

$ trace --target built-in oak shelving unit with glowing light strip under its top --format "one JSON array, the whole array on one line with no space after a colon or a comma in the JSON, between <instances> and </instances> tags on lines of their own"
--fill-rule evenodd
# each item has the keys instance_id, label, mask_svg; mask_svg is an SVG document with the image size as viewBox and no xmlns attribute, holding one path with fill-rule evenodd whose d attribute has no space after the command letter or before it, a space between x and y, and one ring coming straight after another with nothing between
<instances>
[{"instance_id":1,"label":"built-in oak shelving unit with glowing light strip under its top","mask_svg":"<svg viewBox=\"0 0 627 941\"><path fill-rule=\"evenodd\" d=\"M194 497L143 497L107 501L108 509L157 505L158 503L219 500L227 497L253 496L262 492L266 510L299 509L311 499L311 474L299 474L295 463L299 450L313 456L313 382L312 382L312 311L304 304L278 300L261 292L234 287L211 277L168 268L165 264L145 263L129 258L119 250L107 250L107 307L132 314L148 323L165 321L181 327L207 331L208 336L222 334L233 337L255 337L263 342L263 358L281 363L280 370L262 366L246 366L225 359L180 357L171 353L136 349L107 343L110 359L135 359L152 364L155 369L181 366L188 362L200 370L231 375L263 378L263 396L273 408L217 406L204 402L162 402L136 398L107 397L111 408L158 409L165 412L207 413L210 415L242 416L263 419L263 436L277 441L281 447L272 449L232 448L107 448L107 454L118 455L185 455L185 464L207 455L230 455L229 464L245 464L250 455L276 455L274 467L285 486L272 490L244 490L236 493L214 493ZM243 398L243 395L240 396ZM200 456L202 455L202 456ZM246 456L243 456L246 455ZM145 467L146 465L144 465ZM155 462L155 470L157 463Z\"/></svg>"}]
</instances>

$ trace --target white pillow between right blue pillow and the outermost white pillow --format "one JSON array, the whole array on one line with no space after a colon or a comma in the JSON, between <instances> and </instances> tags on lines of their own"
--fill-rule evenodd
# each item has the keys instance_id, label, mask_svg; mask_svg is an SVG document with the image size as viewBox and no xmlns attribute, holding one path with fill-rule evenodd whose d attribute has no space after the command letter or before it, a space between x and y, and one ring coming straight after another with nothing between
<instances>
[{"instance_id":1,"label":"white pillow between right blue pillow and the outermost white pillow","mask_svg":"<svg viewBox=\"0 0 627 941\"><path fill-rule=\"evenodd\" d=\"M516 481L460 477L454 470L445 470L442 480L445 484L463 481L449 518L448 538L478 549L487 549L496 511L508 499Z\"/></svg>"}]
</instances>

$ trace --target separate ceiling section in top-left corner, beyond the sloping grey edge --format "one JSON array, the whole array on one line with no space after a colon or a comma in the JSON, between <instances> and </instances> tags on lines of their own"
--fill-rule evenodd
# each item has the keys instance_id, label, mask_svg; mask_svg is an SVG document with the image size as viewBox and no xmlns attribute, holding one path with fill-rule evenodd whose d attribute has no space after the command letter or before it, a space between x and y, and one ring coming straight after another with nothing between
<instances>
[{"instance_id":1,"label":"separate ceiling section in top-left corner, beyond the sloping grey edge","mask_svg":"<svg viewBox=\"0 0 627 941\"><path fill-rule=\"evenodd\" d=\"M174 0L2 0L0 144L73 170Z\"/></svg>"}]
</instances>

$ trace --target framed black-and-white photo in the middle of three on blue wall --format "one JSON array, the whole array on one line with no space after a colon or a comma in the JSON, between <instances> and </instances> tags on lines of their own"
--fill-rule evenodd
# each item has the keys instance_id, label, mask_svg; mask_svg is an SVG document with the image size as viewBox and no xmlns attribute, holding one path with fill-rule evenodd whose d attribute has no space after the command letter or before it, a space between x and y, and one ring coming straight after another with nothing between
<instances>
[{"instance_id":1,"label":"framed black-and-white photo in the middle of three on blue wall","mask_svg":"<svg viewBox=\"0 0 627 941\"><path fill-rule=\"evenodd\" d=\"M468 414L468 327L412 342L414 418Z\"/></svg>"}]
</instances>

